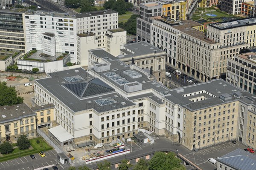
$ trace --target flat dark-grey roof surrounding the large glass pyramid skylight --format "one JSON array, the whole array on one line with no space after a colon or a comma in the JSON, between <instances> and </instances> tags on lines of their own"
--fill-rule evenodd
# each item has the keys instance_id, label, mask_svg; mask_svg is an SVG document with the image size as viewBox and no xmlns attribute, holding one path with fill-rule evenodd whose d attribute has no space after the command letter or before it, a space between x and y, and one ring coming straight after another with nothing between
<instances>
[{"instance_id":1,"label":"flat dark-grey roof surrounding the large glass pyramid skylight","mask_svg":"<svg viewBox=\"0 0 256 170\"><path fill-rule=\"evenodd\" d=\"M95 109L97 112L105 112L135 105L114 90L106 92L105 83L98 78L94 78L82 68L54 72L49 75L51 76L50 78L35 80L36 84L38 83L47 89L73 112L86 109ZM78 77L78 75L80 77ZM64 78L71 82L68 82ZM64 86L64 84L70 85L69 88ZM90 86L90 84L92 84L92 86ZM80 90L80 85L84 90ZM85 87L83 85L85 85ZM77 96L77 94L80 94L79 92L82 92L84 98ZM109 101L107 98L109 97L116 102L107 104ZM98 103L96 101L98 101ZM102 103L102 105L99 105L99 103Z\"/></svg>"}]
</instances>

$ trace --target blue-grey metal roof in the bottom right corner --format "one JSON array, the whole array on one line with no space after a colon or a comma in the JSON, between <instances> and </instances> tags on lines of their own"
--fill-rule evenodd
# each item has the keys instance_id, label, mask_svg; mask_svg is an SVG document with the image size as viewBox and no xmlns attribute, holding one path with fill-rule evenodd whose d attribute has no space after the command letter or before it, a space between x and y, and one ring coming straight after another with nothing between
<instances>
[{"instance_id":1,"label":"blue-grey metal roof in the bottom right corner","mask_svg":"<svg viewBox=\"0 0 256 170\"><path fill-rule=\"evenodd\" d=\"M256 170L256 155L241 149L236 149L221 156L217 158L217 161L236 170Z\"/></svg>"}]
</instances>

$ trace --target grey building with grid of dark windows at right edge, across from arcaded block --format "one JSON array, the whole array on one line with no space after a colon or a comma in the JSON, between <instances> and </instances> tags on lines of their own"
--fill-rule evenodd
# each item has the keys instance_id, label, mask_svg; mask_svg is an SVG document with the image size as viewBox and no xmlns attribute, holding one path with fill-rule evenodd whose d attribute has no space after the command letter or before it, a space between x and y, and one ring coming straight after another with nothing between
<instances>
[{"instance_id":1,"label":"grey building with grid of dark windows at right edge, across from arcaded block","mask_svg":"<svg viewBox=\"0 0 256 170\"><path fill-rule=\"evenodd\" d=\"M227 82L256 95L256 53L248 52L227 59Z\"/></svg>"}]
</instances>

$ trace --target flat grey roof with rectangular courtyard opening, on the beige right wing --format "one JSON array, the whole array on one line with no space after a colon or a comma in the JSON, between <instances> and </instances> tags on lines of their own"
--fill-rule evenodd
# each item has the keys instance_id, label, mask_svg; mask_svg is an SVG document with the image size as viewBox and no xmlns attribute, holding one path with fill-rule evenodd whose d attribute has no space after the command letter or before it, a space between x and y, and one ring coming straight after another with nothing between
<instances>
[{"instance_id":1,"label":"flat grey roof with rectangular courtyard opening, on the beige right wing","mask_svg":"<svg viewBox=\"0 0 256 170\"><path fill-rule=\"evenodd\" d=\"M195 93L200 92L200 94ZM233 86L232 84L227 83L223 79L215 79L212 81L194 84L191 86L184 86L182 88L169 90L170 95L164 96L169 101L172 101L175 104L179 104L187 109L194 111L198 109L203 109L218 104L224 104L225 102L220 99L221 95L233 95L235 92L241 92L241 98L232 96L231 101L240 100L245 104L254 104L256 106L256 97L252 94L240 89L239 87ZM190 95L191 94L191 95ZM187 96L186 96L187 95ZM198 100L192 102L191 98L199 98L200 96L207 98L205 100ZM227 101L230 102L230 101Z\"/></svg>"}]
</instances>

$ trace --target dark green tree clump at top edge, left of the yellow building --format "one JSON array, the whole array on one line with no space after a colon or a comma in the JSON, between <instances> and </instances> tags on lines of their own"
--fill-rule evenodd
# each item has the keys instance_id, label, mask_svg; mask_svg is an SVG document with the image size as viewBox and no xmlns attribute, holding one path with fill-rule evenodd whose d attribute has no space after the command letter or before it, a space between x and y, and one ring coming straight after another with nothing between
<instances>
[{"instance_id":1,"label":"dark green tree clump at top edge, left of the yellow building","mask_svg":"<svg viewBox=\"0 0 256 170\"><path fill-rule=\"evenodd\" d=\"M108 0L104 3L105 9L113 9L118 14L125 14L126 11L129 11L133 8L132 3L127 3L124 0Z\"/></svg>"}]
</instances>

